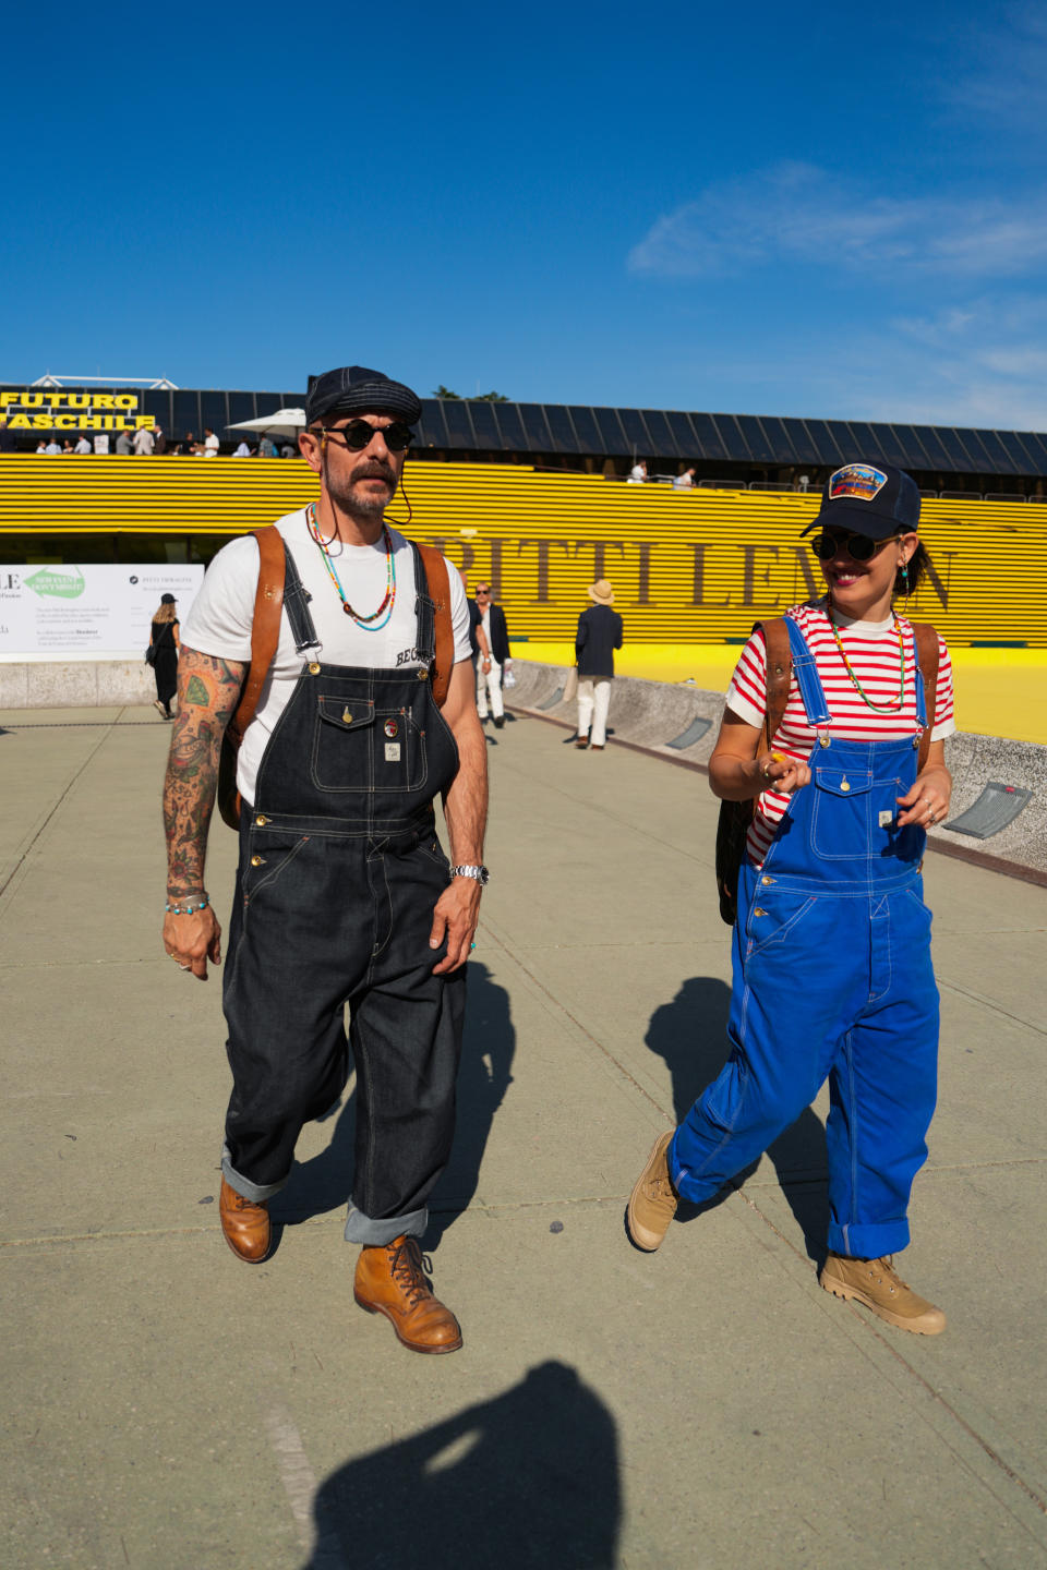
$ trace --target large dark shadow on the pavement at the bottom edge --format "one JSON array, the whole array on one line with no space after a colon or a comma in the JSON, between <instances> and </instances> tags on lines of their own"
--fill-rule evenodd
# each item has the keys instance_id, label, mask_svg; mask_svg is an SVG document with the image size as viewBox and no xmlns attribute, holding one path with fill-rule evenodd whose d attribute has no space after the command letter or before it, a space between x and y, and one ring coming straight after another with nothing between
<instances>
[{"instance_id":1,"label":"large dark shadow on the pavement at the bottom edge","mask_svg":"<svg viewBox=\"0 0 1047 1570\"><path fill-rule=\"evenodd\" d=\"M319 1488L303 1570L614 1570L614 1416L564 1363L339 1466Z\"/></svg>"}]
</instances>

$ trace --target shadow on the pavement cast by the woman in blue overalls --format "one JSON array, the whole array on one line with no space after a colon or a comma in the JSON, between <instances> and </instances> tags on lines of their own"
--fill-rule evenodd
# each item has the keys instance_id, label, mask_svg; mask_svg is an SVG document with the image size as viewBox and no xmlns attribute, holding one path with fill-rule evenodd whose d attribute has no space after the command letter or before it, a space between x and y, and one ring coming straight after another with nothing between
<instances>
[{"instance_id":1,"label":"shadow on the pavement cast by the woman in blue overalls","mask_svg":"<svg viewBox=\"0 0 1047 1570\"><path fill-rule=\"evenodd\" d=\"M651 1014L647 1030L647 1046L672 1074L672 1099L677 1123L683 1123L691 1105L705 1086L716 1079L727 1061L730 1042L727 1019L731 989L716 977L691 977L683 983L672 1003L662 1003ZM812 1259L821 1261L826 1253L826 1229L829 1225L826 1130L819 1118L807 1107L788 1127L768 1156L774 1162L782 1192L790 1203L807 1243ZM677 1220L692 1221L752 1178L757 1162L736 1173L730 1184L705 1204L686 1201L677 1212Z\"/></svg>"}]
</instances>

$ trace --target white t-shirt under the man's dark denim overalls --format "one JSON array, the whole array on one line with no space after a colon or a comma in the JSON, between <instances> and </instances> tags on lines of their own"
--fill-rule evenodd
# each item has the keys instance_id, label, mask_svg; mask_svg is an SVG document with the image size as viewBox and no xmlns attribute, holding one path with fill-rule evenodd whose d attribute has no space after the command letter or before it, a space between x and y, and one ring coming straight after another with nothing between
<instances>
[{"instance_id":1,"label":"white t-shirt under the man's dark denim overalls","mask_svg":"<svg viewBox=\"0 0 1047 1570\"><path fill-rule=\"evenodd\" d=\"M309 614L320 641L317 648L297 653L290 623L279 622L279 644L262 688L254 719L246 728L237 766L237 790L246 802L254 801L254 782L262 754L283 714L308 659L333 666L366 666L374 670L418 670L421 659L414 647L418 617L414 612L414 562L408 542L396 529L392 565L396 571L396 603L392 615L377 633L367 633L342 611L337 589L331 582L320 546L309 534L306 509L287 513L276 528L290 546L306 593ZM386 592L385 542L377 545L331 546L331 562L345 598L355 611L369 615L381 604ZM257 590L257 540L246 534L223 545L204 575L204 584L182 626L182 644L217 659L245 661L251 658L251 619ZM457 567L447 562L451 586L451 625L455 663L471 659L469 606Z\"/></svg>"}]
</instances>

